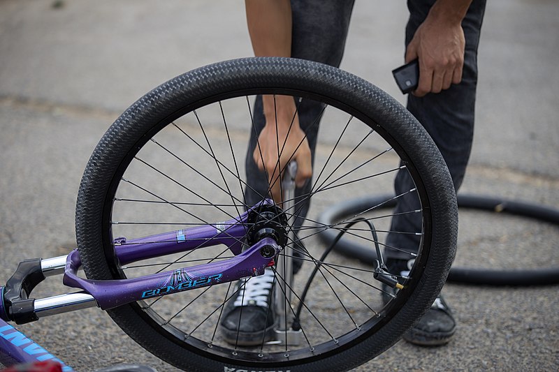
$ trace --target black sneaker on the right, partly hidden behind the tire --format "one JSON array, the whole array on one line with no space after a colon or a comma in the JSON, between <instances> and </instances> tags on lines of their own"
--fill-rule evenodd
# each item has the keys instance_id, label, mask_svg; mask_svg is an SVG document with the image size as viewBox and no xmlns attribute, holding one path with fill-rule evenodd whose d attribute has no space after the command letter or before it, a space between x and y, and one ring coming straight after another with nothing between
<instances>
[{"instance_id":1,"label":"black sneaker on the right, partly hidden behind the tire","mask_svg":"<svg viewBox=\"0 0 559 372\"><path fill-rule=\"evenodd\" d=\"M391 273L399 273L402 276L409 274L409 269L413 261L406 260L386 260L386 267ZM392 290L387 285L383 285L386 292ZM388 302L389 296L383 295L384 302ZM433 305L419 322L404 334L404 340L421 346L440 346L449 343L456 332L456 321L452 311L441 294L437 296Z\"/></svg>"}]
</instances>

